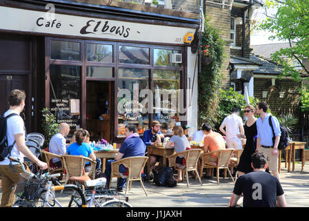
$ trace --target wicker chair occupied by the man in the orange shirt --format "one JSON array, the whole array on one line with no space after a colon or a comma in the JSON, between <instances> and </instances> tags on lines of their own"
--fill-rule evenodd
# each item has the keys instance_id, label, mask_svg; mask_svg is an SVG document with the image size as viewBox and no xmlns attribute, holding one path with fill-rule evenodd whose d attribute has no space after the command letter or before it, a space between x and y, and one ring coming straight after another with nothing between
<instances>
[{"instance_id":1,"label":"wicker chair occupied by the man in the orange shirt","mask_svg":"<svg viewBox=\"0 0 309 221\"><path fill-rule=\"evenodd\" d=\"M201 154L201 167L199 169L199 175L201 176L203 173L203 169L217 169L217 183L219 185L219 169L227 169L228 174L230 177L232 177L232 173L230 173L230 169L228 169L230 157L232 156L232 153L234 152L234 149L226 149L226 150L217 150L217 151L211 151L208 153L202 153ZM217 156L217 162L210 162L210 155L216 155ZM232 177L232 181L235 182L234 178Z\"/></svg>"}]
</instances>

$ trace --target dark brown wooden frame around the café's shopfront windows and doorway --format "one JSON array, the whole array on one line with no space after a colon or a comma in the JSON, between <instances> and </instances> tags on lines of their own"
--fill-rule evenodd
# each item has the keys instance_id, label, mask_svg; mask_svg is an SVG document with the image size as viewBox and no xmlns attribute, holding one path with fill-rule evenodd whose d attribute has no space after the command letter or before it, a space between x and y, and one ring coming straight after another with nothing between
<instances>
[{"instance_id":1,"label":"dark brown wooden frame around the caf\u00e9's shopfront windows and doorway","mask_svg":"<svg viewBox=\"0 0 309 221\"><path fill-rule=\"evenodd\" d=\"M79 42L80 50L81 50L81 61L66 61L66 60L58 60L50 58L50 41L73 41ZM113 48L113 59L112 62L94 62L87 61L87 44L106 44L112 45ZM114 142L120 141L123 139L122 136L118 135L118 111L117 111L117 86L118 86L118 69L119 68L138 68L138 69L146 69L149 72L148 84L149 89L153 89L153 72L154 70L175 70L180 72L180 89L184 90L184 97L186 97L186 86L187 86L187 47L186 46L166 46L166 45L153 45L153 44L145 44L143 42L138 43L129 43L129 42L121 42L121 41L97 41L90 39L68 39L62 37L45 37L45 75L46 75L46 95L45 95L45 106L50 107L50 73L49 67L50 65L65 65L65 66L81 66L81 127L86 126L86 81L112 81L112 102L110 108L111 122L114 121L114 124L111 125L112 135L111 139ZM119 63L119 48L121 46L132 46L139 48L149 48L149 64L124 64ZM179 50L182 55L182 63L181 66L155 66L154 65L154 49L163 49L163 50ZM113 68L113 77L105 78L105 77L86 77L86 67L87 66L102 66L102 67L110 67ZM184 104L186 107L186 99L184 99ZM153 120L153 113L148 113L149 117L149 125ZM186 123L186 122L185 122Z\"/></svg>"}]
</instances>

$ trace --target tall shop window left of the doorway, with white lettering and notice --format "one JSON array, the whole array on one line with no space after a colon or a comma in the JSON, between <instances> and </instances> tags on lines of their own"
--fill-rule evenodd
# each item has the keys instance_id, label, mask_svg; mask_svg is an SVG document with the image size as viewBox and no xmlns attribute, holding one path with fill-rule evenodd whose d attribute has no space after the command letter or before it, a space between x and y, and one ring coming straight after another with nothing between
<instances>
[{"instance_id":1,"label":"tall shop window left of the doorway, with white lettering and notice","mask_svg":"<svg viewBox=\"0 0 309 221\"><path fill-rule=\"evenodd\" d=\"M50 111L57 123L70 125L73 133L81 125L81 67L50 65Z\"/></svg>"}]
</instances>

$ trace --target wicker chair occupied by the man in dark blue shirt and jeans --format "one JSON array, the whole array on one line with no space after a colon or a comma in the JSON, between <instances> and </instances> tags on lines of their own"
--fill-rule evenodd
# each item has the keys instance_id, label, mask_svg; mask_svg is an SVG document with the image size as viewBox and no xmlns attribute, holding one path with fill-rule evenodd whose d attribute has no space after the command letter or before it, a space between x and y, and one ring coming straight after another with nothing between
<instances>
[{"instance_id":1,"label":"wicker chair occupied by the man in dark blue shirt and jeans","mask_svg":"<svg viewBox=\"0 0 309 221\"><path fill-rule=\"evenodd\" d=\"M112 183L112 177L121 177L119 174L119 166L123 164L128 168L128 175L126 175L127 184L126 184L126 193L128 190L128 185L130 184L130 190L132 181L139 180L141 182L141 187L143 187L143 191L145 192L146 196L148 196L145 186L143 186L143 180L141 178L141 172L145 167L145 164L148 160L148 157L126 157L121 160L117 160L112 162L112 172L110 173L110 184ZM109 186L110 188L110 186Z\"/></svg>"}]
</instances>

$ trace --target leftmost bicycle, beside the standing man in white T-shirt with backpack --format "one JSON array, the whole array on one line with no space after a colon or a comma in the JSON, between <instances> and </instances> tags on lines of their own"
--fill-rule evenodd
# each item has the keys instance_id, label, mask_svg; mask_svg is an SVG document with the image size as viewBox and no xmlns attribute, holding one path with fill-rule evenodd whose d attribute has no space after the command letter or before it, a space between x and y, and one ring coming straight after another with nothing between
<instances>
[{"instance_id":1,"label":"leftmost bicycle, beside the standing man in white T-shirt with backpack","mask_svg":"<svg viewBox=\"0 0 309 221\"><path fill-rule=\"evenodd\" d=\"M13 207L86 207L86 196L78 186L74 184L61 185L55 177L59 177L60 173L50 174L40 171L37 174L26 171L25 166L19 159L9 157L12 162L21 164L23 173L21 176L26 182L19 182L14 185L15 198ZM54 186L53 186L54 184ZM62 195L56 195L55 191L62 191ZM78 201L76 199L79 199ZM63 206L68 202L68 205Z\"/></svg>"}]
</instances>

